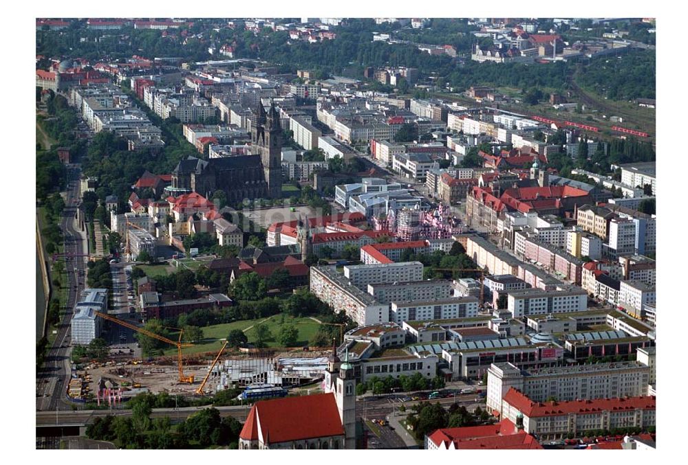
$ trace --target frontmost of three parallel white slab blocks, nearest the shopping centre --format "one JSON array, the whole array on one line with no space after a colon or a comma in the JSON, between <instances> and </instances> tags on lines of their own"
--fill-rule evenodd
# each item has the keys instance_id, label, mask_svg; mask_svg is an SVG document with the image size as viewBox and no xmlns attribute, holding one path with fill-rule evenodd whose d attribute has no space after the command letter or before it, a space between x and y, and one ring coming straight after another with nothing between
<instances>
[{"instance_id":1,"label":"frontmost of three parallel white slab blocks, nearest the shopping centre","mask_svg":"<svg viewBox=\"0 0 688 465\"><path fill-rule=\"evenodd\" d=\"M476 317L477 307L478 299L475 297L392 302L389 310L389 321L402 324L403 321Z\"/></svg>"}]
</instances>

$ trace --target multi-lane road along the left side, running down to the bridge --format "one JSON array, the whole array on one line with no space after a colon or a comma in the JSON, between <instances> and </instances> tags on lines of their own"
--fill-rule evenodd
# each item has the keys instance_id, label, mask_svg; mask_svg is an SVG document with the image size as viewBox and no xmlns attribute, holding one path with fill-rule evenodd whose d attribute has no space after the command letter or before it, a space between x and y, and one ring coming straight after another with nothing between
<instances>
[{"instance_id":1,"label":"multi-lane road along the left side, running down to the bridge","mask_svg":"<svg viewBox=\"0 0 688 465\"><path fill-rule=\"evenodd\" d=\"M78 293L85 286L87 250L84 236L78 231L76 220L76 206L80 199L79 192L80 167L68 166L67 199L63 210L60 228L65 239L65 271L67 273L67 302L65 313L57 328L55 341L48 350L43 370L36 376L36 410L71 409L65 395L67 383L72 376L69 363L69 321L72 319L74 304Z\"/></svg>"}]
</instances>

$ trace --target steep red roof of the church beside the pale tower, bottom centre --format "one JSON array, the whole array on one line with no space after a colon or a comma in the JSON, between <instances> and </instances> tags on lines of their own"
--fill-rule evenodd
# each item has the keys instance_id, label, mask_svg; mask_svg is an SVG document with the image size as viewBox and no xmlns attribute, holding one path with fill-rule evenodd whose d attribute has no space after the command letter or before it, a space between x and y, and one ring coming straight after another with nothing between
<instances>
[{"instance_id":1,"label":"steep red roof of the church beside the pale tower, bottom centre","mask_svg":"<svg viewBox=\"0 0 688 465\"><path fill-rule=\"evenodd\" d=\"M344 435L334 394L259 400L239 438L277 443Z\"/></svg>"}]
</instances>

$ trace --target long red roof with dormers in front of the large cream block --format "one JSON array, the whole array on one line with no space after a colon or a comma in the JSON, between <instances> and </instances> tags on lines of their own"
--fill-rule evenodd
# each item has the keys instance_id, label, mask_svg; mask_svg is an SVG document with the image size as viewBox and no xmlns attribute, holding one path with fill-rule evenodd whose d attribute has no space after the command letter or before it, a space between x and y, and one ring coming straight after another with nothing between
<instances>
[{"instance_id":1,"label":"long red roof with dormers in front of the large cream block","mask_svg":"<svg viewBox=\"0 0 688 465\"><path fill-rule=\"evenodd\" d=\"M504 395L504 402L512 405L530 418L568 415L569 413L594 413L599 411L654 410L655 397L604 398L595 400L569 400L566 402L533 402L513 387Z\"/></svg>"}]
</instances>

